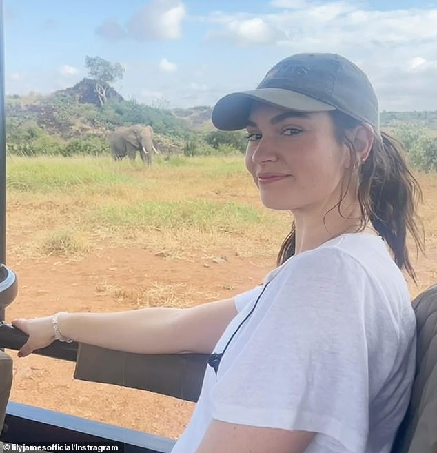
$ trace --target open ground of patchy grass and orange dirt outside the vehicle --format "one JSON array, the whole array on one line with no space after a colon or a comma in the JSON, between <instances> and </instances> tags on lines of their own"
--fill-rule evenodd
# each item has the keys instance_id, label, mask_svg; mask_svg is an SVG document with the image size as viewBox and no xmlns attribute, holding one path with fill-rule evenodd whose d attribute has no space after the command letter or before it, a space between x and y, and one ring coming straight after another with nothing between
<instances>
[{"instance_id":1,"label":"open ground of patchy grass and orange dirt outside the vehicle","mask_svg":"<svg viewBox=\"0 0 437 453\"><path fill-rule=\"evenodd\" d=\"M437 281L437 177L417 177L427 256L415 261L411 296ZM9 157L8 265L20 290L7 319L232 296L274 267L289 223L262 208L241 156L175 156L150 170L110 157ZM75 381L73 370L15 359L11 398L174 439L190 418L192 403Z\"/></svg>"}]
</instances>

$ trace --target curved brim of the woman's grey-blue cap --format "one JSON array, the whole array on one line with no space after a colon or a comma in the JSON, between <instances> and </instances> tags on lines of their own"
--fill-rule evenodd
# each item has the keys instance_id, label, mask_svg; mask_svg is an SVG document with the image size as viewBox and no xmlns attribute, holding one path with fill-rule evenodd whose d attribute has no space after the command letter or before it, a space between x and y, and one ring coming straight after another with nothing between
<instances>
[{"instance_id":1,"label":"curved brim of the woman's grey-blue cap","mask_svg":"<svg viewBox=\"0 0 437 453\"><path fill-rule=\"evenodd\" d=\"M261 101L279 108L296 112L329 112L333 105L318 101L295 91L283 88L258 88L241 91L222 97L212 110L212 123L217 129L238 130L247 126L252 101Z\"/></svg>"}]
</instances>

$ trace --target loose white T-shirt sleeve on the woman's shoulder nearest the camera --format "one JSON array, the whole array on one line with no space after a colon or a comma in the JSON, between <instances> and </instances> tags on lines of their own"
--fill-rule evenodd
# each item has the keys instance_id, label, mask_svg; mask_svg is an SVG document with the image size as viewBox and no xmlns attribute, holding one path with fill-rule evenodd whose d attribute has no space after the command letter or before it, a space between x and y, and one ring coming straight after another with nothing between
<instances>
[{"instance_id":1,"label":"loose white T-shirt sleeve on the woman's shoulder nearest the camera","mask_svg":"<svg viewBox=\"0 0 437 453\"><path fill-rule=\"evenodd\" d=\"M274 292L265 291L272 301L250 341L212 388L212 416L316 432L316 439L341 443L338 450L364 452L365 271L344 252L321 248L296 256L285 272Z\"/></svg>"}]
</instances>

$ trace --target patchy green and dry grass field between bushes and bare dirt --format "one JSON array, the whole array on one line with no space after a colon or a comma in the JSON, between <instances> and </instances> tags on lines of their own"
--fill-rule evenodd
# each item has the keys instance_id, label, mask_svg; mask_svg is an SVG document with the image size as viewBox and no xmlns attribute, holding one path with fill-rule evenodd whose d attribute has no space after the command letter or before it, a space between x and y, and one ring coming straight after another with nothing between
<instances>
[{"instance_id":1,"label":"patchy green and dry grass field between bushes and bare dirt","mask_svg":"<svg viewBox=\"0 0 437 453\"><path fill-rule=\"evenodd\" d=\"M272 254L289 228L288 214L261 206L240 156L156 159L149 170L109 157L9 157L8 209L10 232L32 232L10 244L25 256L77 256L101 239L179 255L211 245Z\"/></svg>"}]
</instances>

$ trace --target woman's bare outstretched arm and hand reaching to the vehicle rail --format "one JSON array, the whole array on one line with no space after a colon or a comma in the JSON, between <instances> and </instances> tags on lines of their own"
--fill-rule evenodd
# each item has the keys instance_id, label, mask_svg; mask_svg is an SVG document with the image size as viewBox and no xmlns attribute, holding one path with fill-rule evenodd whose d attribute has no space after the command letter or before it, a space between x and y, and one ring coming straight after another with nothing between
<instances>
[{"instance_id":1,"label":"woman's bare outstretched arm and hand reaching to the vehicle rail","mask_svg":"<svg viewBox=\"0 0 437 453\"><path fill-rule=\"evenodd\" d=\"M183 309L65 313L59 316L58 326L65 337L103 348L141 354L208 353L236 313L234 299L223 299ZM52 316L16 319L12 323L29 335L19 356L54 341Z\"/></svg>"}]
</instances>

